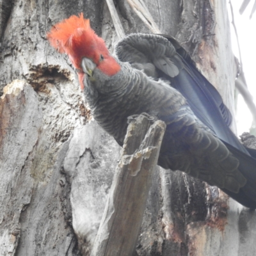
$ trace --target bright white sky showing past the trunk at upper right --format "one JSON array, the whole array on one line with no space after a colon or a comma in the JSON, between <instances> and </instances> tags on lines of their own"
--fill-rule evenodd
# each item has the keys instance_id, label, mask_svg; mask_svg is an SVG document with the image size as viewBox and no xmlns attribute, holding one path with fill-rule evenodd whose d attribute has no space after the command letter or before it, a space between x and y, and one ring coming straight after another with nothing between
<instances>
[{"instance_id":1,"label":"bright white sky showing past the trunk at upper right","mask_svg":"<svg viewBox=\"0 0 256 256\"><path fill-rule=\"evenodd\" d=\"M254 101L256 99L256 12L254 13L252 19L250 19L250 13L252 11L252 6L254 0L251 0L248 4L243 15L239 14L239 8L243 3L243 0L232 0L232 6L234 11L234 19L236 24L236 29L238 33L238 40L241 50L241 56L243 61L243 70L246 77L246 82L248 88L252 93ZM228 9L230 10L230 4L228 4ZM231 17L230 17L231 21ZM239 59L239 52L237 48L237 40L234 34L234 27L230 24L232 32L232 48L234 54ZM249 131L252 125L252 115L250 110L247 108L243 97L239 95L237 104L237 134L241 135L245 131Z\"/></svg>"}]
</instances>

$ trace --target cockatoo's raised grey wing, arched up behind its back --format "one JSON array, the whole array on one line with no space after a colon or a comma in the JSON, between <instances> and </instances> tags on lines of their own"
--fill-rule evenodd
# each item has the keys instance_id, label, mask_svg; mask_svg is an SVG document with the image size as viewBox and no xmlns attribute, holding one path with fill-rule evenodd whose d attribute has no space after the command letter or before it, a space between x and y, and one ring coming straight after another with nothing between
<instances>
[{"instance_id":1,"label":"cockatoo's raised grey wing, arched up behind its back","mask_svg":"<svg viewBox=\"0 0 256 256\"><path fill-rule=\"evenodd\" d=\"M132 67L143 69L148 76L157 78L158 71L158 78L170 80L207 127L222 140L237 146L237 140L232 135L227 132L223 134L223 124L220 123L223 120L230 125L232 115L223 104L220 93L198 72L189 54L172 36L165 38L161 35L131 34L116 45L116 55L119 60L129 62ZM156 68L151 74L147 72L148 63Z\"/></svg>"}]
</instances>

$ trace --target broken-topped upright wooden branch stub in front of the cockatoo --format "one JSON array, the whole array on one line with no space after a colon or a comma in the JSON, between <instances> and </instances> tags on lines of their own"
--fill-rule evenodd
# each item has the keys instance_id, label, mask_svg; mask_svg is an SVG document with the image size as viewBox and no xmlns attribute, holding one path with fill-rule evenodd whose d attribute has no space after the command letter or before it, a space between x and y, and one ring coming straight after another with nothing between
<instances>
[{"instance_id":1,"label":"broken-topped upright wooden branch stub in front of the cockatoo","mask_svg":"<svg viewBox=\"0 0 256 256\"><path fill-rule=\"evenodd\" d=\"M165 127L145 115L131 120L92 256L132 255Z\"/></svg>"}]
</instances>

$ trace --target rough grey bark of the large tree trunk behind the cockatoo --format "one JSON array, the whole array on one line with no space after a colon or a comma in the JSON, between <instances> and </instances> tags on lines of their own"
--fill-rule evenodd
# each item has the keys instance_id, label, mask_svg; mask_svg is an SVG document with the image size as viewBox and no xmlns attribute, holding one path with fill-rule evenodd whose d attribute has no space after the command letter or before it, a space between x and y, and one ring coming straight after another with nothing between
<instances>
[{"instance_id":1,"label":"rough grey bark of the large tree trunk behind the cockatoo","mask_svg":"<svg viewBox=\"0 0 256 256\"><path fill-rule=\"evenodd\" d=\"M120 147L95 124L76 72L48 44L53 24L80 12L107 42L117 35L105 1L2 0L0 51L0 252L90 255ZM233 109L236 65L225 1L145 0ZM125 33L150 33L126 0ZM255 212L180 172L152 180L138 255L253 255Z\"/></svg>"}]
</instances>

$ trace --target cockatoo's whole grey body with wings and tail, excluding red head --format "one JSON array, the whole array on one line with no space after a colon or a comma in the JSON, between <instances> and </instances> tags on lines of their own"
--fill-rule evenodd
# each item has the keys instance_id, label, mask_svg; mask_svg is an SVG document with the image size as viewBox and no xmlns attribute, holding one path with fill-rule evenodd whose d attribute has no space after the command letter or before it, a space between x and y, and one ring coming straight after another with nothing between
<instances>
[{"instance_id":1,"label":"cockatoo's whole grey body with wings and tail, excluding red head","mask_svg":"<svg viewBox=\"0 0 256 256\"><path fill-rule=\"evenodd\" d=\"M116 55L129 62L118 61L121 70L117 74L107 76L95 68L93 77L84 80L88 83L86 100L99 125L122 145L128 116L148 113L163 120L167 127L160 166L189 173L218 186L241 204L255 207L256 161L251 159L252 164L244 167L244 159L250 156L228 128L230 112L219 93L191 66L192 61L184 60L172 42L158 35L127 36L117 45ZM184 58L189 57L185 54ZM163 74L164 81L158 79ZM187 99L173 84L182 93L188 90L183 93ZM198 95L195 86L207 92Z\"/></svg>"}]
</instances>

